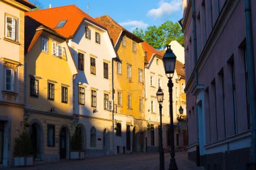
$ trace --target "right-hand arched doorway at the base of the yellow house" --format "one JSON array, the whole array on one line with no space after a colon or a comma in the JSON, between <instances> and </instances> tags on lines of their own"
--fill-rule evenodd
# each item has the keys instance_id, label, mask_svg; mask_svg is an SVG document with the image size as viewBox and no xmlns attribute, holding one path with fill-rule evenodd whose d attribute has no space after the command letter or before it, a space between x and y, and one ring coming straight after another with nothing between
<instances>
[{"instance_id":1,"label":"right-hand arched doorway at the base of the yellow house","mask_svg":"<svg viewBox=\"0 0 256 170\"><path fill-rule=\"evenodd\" d=\"M59 133L59 157L69 158L69 130L66 127L61 128Z\"/></svg>"}]
</instances>

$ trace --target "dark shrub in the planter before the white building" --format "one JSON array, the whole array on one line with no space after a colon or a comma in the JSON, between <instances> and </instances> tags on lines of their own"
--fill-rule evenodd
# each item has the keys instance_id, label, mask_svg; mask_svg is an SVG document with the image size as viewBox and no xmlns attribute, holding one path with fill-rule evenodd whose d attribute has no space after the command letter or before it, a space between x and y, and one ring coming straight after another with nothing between
<instances>
[{"instance_id":1,"label":"dark shrub in the planter before the white building","mask_svg":"<svg viewBox=\"0 0 256 170\"><path fill-rule=\"evenodd\" d=\"M79 126L76 127L75 133L71 136L71 150L82 151L82 132Z\"/></svg>"}]
</instances>

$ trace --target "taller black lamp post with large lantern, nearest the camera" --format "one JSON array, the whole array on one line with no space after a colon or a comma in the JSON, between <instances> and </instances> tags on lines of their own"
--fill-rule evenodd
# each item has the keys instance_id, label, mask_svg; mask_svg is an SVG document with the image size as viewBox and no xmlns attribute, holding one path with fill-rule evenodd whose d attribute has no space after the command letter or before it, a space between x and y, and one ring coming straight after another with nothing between
<instances>
[{"instance_id":1,"label":"taller black lamp post with large lantern, nearest the camera","mask_svg":"<svg viewBox=\"0 0 256 170\"><path fill-rule=\"evenodd\" d=\"M167 50L162 58L164 62L164 71L168 77L168 89L169 89L169 101L170 101L170 165L169 170L177 170L177 164L175 161L174 151L174 127L173 127L173 110L172 110L172 76L175 69L176 56L170 49L170 45L167 46Z\"/></svg>"}]
</instances>

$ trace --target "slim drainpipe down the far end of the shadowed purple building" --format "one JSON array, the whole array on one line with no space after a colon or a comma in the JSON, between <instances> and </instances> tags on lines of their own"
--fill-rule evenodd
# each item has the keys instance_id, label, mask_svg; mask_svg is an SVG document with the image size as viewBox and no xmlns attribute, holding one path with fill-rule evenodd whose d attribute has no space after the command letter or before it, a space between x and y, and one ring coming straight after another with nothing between
<instances>
[{"instance_id":1,"label":"slim drainpipe down the far end of the shadowed purple building","mask_svg":"<svg viewBox=\"0 0 256 170\"><path fill-rule=\"evenodd\" d=\"M193 50L194 50L194 67L197 65L197 26L195 19L195 0L192 0L192 19L193 19ZM195 87L198 85L197 71L195 70ZM197 103L195 102L195 112L197 112L197 167L200 166L200 148L199 148L199 115L197 111Z\"/></svg>"}]
</instances>

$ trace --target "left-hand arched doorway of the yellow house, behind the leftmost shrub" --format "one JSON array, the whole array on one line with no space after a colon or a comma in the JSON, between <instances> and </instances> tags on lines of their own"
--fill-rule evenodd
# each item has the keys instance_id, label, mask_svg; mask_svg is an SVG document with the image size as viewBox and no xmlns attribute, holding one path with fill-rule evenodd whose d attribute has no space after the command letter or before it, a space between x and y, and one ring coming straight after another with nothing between
<instances>
[{"instance_id":1,"label":"left-hand arched doorway of the yellow house, behind the leftmost shrub","mask_svg":"<svg viewBox=\"0 0 256 170\"><path fill-rule=\"evenodd\" d=\"M40 124L32 121L30 126L30 138L32 140L34 158L41 159L43 152L43 136Z\"/></svg>"}]
</instances>

